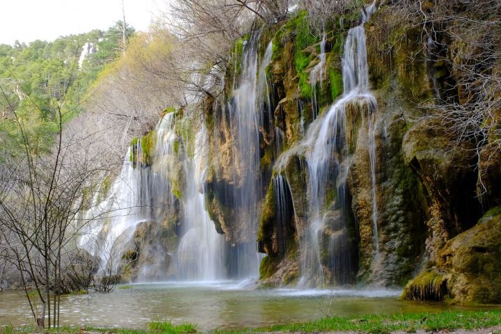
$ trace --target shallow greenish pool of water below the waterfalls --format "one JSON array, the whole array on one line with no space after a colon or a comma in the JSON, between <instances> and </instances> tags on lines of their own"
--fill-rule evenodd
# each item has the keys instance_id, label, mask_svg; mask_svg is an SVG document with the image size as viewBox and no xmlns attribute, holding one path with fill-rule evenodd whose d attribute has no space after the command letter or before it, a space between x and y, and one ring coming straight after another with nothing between
<instances>
[{"instance_id":1,"label":"shallow greenish pool of water below the waterfalls","mask_svg":"<svg viewBox=\"0 0 501 334\"><path fill-rule=\"evenodd\" d=\"M244 283L147 283L109 294L64 296L61 325L143 328L155 320L190 322L202 331L308 321L329 315L468 310L445 303L399 301L399 291L250 289ZM31 320L22 292L0 292L0 326Z\"/></svg>"}]
</instances>

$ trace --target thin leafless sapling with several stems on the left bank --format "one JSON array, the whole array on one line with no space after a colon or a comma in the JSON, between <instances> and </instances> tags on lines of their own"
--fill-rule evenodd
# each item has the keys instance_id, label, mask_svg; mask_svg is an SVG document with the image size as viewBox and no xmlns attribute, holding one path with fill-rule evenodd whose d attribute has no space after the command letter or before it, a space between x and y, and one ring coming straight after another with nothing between
<instances>
[{"instance_id":1,"label":"thin leafless sapling with several stems on the left bank","mask_svg":"<svg viewBox=\"0 0 501 334\"><path fill-rule=\"evenodd\" d=\"M75 67L74 67L75 68ZM93 201L93 193L102 176L113 164L102 148L102 134L95 127L83 127L83 117L65 122L65 96L72 86L70 76L66 90L56 99L39 103L24 92L26 109L19 110L12 96L0 87L5 107L15 120L22 153L6 155L0 165L0 225L3 245L10 261L17 267L31 312L40 328L59 326L61 294L80 288L77 281L67 280L75 273L79 250L75 239L79 230L98 217L82 217ZM55 144L40 150L31 138L29 124L22 112L47 110L45 124L55 129ZM108 161L106 161L108 160ZM92 268L89 268L90 272ZM86 276L81 272L77 276ZM85 278L85 277L79 277ZM84 282L85 280L82 280ZM36 297L29 290L35 289ZM41 304L41 310L35 306ZM47 322L46 322L47 321Z\"/></svg>"}]
</instances>

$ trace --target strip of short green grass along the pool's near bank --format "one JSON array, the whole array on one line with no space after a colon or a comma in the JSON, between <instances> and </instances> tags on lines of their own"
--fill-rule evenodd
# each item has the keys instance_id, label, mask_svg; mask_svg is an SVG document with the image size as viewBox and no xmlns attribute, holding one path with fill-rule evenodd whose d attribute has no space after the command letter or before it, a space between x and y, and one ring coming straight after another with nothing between
<instances>
[{"instance_id":1,"label":"strip of short green grass along the pool's near bank","mask_svg":"<svg viewBox=\"0 0 501 334\"><path fill-rule=\"evenodd\" d=\"M454 330L464 328L488 328L501 325L501 310L485 311L444 311L437 313L411 313L396 315L364 315L360 317L328 317L301 324L279 324L266 328L244 328L232 331L214 331L215 334L248 334L263 332L319 333L329 331L357 331L363 333L390 333L392 331L415 332ZM174 325L170 321L152 322L148 329L127 328L86 328L87 331L115 334L193 334L197 333L193 324ZM79 333L81 328L64 327L59 333ZM0 333L29 333L22 329L15 331L8 326Z\"/></svg>"}]
</instances>

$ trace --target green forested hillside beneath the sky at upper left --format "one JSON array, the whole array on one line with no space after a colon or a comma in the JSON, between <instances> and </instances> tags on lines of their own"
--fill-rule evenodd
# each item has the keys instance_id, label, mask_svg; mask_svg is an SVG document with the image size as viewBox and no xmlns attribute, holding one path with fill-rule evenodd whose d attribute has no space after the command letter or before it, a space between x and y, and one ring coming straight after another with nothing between
<instances>
[{"instance_id":1,"label":"green forested hillside beneath the sky at upper left","mask_svg":"<svg viewBox=\"0 0 501 334\"><path fill-rule=\"evenodd\" d=\"M60 131L58 109L63 124L81 111L97 74L122 53L121 30L118 22L108 31L68 35L53 42L0 45L0 157L24 154L19 123L30 150L48 152ZM132 35L134 29L128 27L127 33ZM93 47L79 65L87 42Z\"/></svg>"}]
</instances>

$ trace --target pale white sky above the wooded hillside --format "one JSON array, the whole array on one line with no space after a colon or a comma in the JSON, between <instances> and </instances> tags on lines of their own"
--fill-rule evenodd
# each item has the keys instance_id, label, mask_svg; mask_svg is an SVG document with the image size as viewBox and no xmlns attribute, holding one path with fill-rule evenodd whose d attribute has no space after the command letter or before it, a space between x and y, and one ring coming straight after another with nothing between
<instances>
[{"instance_id":1,"label":"pale white sky above the wooded hillside","mask_svg":"<svg viewBox=\"0 0 501 334\"><path fill-rule=\"evenodd\" d=\"M125 21L146 31L164 0L124 0ZM0 0L0 44L55 40L107 29L122 19L122 0Z\"/></svg>"}]
</instances>

